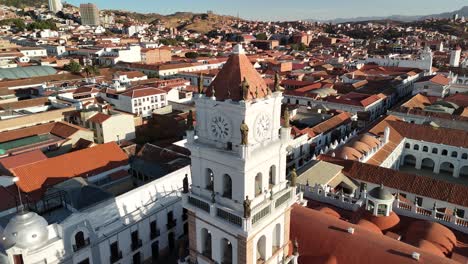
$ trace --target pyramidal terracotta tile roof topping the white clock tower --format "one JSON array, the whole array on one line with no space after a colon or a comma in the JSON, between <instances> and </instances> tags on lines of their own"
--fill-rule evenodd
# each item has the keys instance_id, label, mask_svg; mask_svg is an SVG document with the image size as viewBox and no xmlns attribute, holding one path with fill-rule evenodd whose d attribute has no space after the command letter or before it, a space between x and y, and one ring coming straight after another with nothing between
<instances>
[{"instance_id":1,"label":"pyramidal terracotta tile roof topping the white clock tower","mask_svg":"<svg viewBox=\"0 0 468 264\"><path fill-rule=\"evenodd\" d=\"M211 83L210 89L207 90L206 94L211 96L211 89L214 87L215 96L218 100L242 100L241 83L244 78L250 86L247 96L248 100L257 97L263 98L268 94L267 84L245 54L233 54L229 57L226 64ZM256 95L257 93L258 96Z\"/></svg>"}]
</instances>

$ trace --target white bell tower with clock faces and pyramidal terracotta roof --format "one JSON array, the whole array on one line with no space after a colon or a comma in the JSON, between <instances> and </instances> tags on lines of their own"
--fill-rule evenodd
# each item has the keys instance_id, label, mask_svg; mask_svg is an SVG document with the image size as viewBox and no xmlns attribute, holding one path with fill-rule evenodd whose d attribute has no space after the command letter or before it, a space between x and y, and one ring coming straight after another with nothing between
<instances>
[{"instance_id":1,"label":"white bell tower with clock faces and pyramidal terracotta roof","mask_svg":"<svg viewBox=\"0 0 468 264\"><path fill-rule=\"evenodd\" d=\"M237 46L206 95L195 99L187 132L192 185L191 263L282 263L289 250L296 188L286 180L289 126L271 91Z\"/></svg>"}]
</instances>

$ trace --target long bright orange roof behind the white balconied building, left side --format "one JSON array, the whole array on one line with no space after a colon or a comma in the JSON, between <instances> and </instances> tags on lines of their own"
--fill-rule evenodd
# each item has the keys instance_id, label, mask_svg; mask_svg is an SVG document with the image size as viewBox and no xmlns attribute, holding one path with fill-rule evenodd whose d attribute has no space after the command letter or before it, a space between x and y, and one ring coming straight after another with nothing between
<instances>
[{"instance_id":1,"label":"long bright orange roof behind the white balconied building, left side","mask_svg":"<svg viewBox=\"0 0 468 264\"><path fill-rule=\"evenodd\" d=\"M97 145L12 170L26 193L42 193L49 186L74 177L88 178L128 164L128 156L115 143Z\"/></svg>"}]
</instances>

